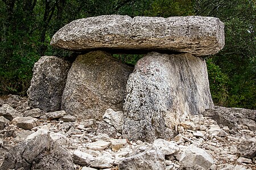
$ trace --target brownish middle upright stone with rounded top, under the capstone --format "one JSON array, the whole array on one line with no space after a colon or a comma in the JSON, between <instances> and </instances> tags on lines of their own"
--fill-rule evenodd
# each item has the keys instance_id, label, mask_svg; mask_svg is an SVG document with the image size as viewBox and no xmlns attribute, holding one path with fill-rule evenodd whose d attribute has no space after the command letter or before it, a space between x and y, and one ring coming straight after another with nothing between
<instances>
[{"instance_id":1,"label":"brownish middle upright stone with rounded top, under the capstone","mask_svg":"<svg viewBox=\"0 0 256 170\"><path fill-rule=\"evenodd\" d=\"M132 70L105 52L78 56L68 73L61 108L77 118L100 120L108 108L121 111Z\"/></svg>"}]
</instances>

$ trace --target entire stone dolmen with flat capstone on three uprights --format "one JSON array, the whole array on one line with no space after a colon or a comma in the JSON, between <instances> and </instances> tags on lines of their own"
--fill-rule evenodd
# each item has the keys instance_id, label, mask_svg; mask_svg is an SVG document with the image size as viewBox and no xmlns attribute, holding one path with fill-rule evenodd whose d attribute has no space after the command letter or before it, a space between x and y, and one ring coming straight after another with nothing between
<instances>
[{"instance_id":1,"label":"entire stone dolmen with flat capstone on three uprights","mask_svg":"<svg viewBox=\"0 0 256 170\"><path fill-rule=\"evenodd\" d=\"M224 47L224 24L203 16L104 15L74 20L51 45L76 52L74 62L44 56L34 66L28 103L101 120L123 111L122 136L153 142L171 139L189 114L214 107L207 65L200 56ZM135 67L112 54L144 54Z\"/></svg>"}]
</instances>

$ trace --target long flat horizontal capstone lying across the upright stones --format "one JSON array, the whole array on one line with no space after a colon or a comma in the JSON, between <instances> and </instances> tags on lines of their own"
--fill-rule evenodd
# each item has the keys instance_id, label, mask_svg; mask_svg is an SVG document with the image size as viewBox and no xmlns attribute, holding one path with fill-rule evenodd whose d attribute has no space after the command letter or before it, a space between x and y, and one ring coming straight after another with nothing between
<instances>
[{"instance_id":1,"label":"long flat horizontal capstone lying across the upright stones","mask_svg":"<svg viewBox=\"0 0 256 170\"><path fill-rule=\"evenodd\" d=\"M218 53L224 44L224 24L203 16L82 18L65 25L51 40L51 45L72 51L168 50L196 56Z\"/></svg>"}]
</instances>

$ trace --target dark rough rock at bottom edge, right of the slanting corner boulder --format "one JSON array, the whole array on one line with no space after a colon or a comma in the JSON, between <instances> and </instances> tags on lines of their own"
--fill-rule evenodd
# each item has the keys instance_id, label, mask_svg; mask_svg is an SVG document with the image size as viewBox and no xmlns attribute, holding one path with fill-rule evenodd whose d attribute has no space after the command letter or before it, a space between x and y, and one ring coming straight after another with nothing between
<instances>
[{"instance_id":1,"label":"dark rough rock at bottom edge, right of the slanting corner boulder","mask_svg":"<svg viewBox=\"0 0 256 170\"><path fill-rule=\"evenodd\" d=\"M49 153L44 152L35 158L31 169L36 170L73 170L72 156L63 147L55 147Z\"/></svg>"}]
</instances>

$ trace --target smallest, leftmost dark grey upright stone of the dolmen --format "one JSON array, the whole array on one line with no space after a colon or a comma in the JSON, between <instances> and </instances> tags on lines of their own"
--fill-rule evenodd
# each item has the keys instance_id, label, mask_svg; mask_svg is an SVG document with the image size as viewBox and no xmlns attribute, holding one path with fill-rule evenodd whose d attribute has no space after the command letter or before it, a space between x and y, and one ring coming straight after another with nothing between
<instances>
[{"instance_id":1,"label":"smallest, leftmost dark grey upright stone of the dolmen","mask_svg":"<svg viewBox=\"0 0 256 170\"><path fill-rule=\"evenodd\" d=\"M71 63L55 56L43 56L35 63L28 88L28 105L45 112L60 110L61 96Z\"/></svg>"}]
</instances>

